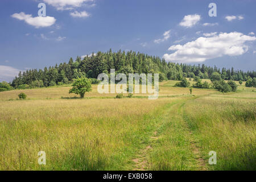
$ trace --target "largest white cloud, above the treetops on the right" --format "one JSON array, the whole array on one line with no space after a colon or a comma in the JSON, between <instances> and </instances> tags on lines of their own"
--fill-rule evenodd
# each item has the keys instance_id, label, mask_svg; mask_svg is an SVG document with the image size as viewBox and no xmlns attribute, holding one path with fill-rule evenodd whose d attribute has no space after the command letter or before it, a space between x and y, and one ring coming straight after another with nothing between
<instances>
[{"instance_id":1,"label":"largest white cloud, above the treetops on the right","mask_svg":"<svg viewBox=\"0 0 256 182\"><path fill-rule=\"evenodd\" d=\"M200 37L183 46L178 44L168 50L175 51L164 54L167 61L180 61L182 63L202 62L216 57L238 56L247 52L245 42L255 41L255 36L243 35L240 32L220 33L209 38Z\"/></svg>"}]
</instances>

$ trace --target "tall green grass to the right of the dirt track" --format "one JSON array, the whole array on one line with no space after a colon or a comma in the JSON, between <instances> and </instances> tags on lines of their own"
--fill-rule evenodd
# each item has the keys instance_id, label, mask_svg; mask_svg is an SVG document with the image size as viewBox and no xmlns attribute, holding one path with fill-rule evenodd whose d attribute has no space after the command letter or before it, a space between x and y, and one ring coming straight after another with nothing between
<instances>
[{"instance_id":1,"label":"tall green grass to the right of the dirt track","mask_svg":"<svg viewBox=\"0 0 256 182\"><path fill-rule=\"evenodd\" d=\"M202 97L185 105L187 122L204 158L217 152L215 170L256 169L255 100ZM245 96L245 94L241 94Z\"/></svg>"}]
</instances>

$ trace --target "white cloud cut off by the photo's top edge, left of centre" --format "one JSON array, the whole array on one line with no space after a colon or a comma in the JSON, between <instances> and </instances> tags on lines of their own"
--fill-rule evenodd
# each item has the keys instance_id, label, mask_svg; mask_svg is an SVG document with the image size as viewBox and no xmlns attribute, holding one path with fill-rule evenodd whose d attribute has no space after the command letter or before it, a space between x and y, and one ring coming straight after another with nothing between
<instances>
[{"instance_id":1,"label":"white cloud cut off by the photo's top edge, left of centre","mask_svg":"<svg viewBox=\"0 0 256 182\"><path fill-rule=\"evenodd\" d=\"M43 0L48 5L54 6L57 10L71 10L76 7L81 7L85 2L93 2L94 0ZM88 5L88 6L95 6Z\"/></svg>"}]
</instances>

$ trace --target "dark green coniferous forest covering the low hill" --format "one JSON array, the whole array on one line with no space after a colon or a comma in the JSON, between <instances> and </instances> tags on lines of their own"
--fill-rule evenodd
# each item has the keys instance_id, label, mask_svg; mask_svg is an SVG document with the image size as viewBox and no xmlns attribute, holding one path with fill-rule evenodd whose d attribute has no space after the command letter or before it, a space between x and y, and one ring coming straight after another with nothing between
<instances>
[{"instance_id":1,"label":"dark green coniferous forest covering the low hill","mask_svg":"<svg viewBox=\"0 0 256 182\"><path fill-rule=\"evenodd\" d=\"M92 53L92 56L85 56L84 59L77 56L68 63L60 63L52 67L32 69L20 72L15 77L11 86L19 88L24 85L34 87L54 86L56 84L68 84L74 78L82 76L97 78L100 73L110 73L114 68L115 73L159 73L159 81L181 80L183 77L210 78L212 73L218 72L224 80L246 81L248 77L256 77L255 71L243 72L241 70L207 67L206 65L189 65L182 63L167 63L158 56L149 56L140 52L125 52L119 50L112 52Z\"/></svg>"}]
</instances>

